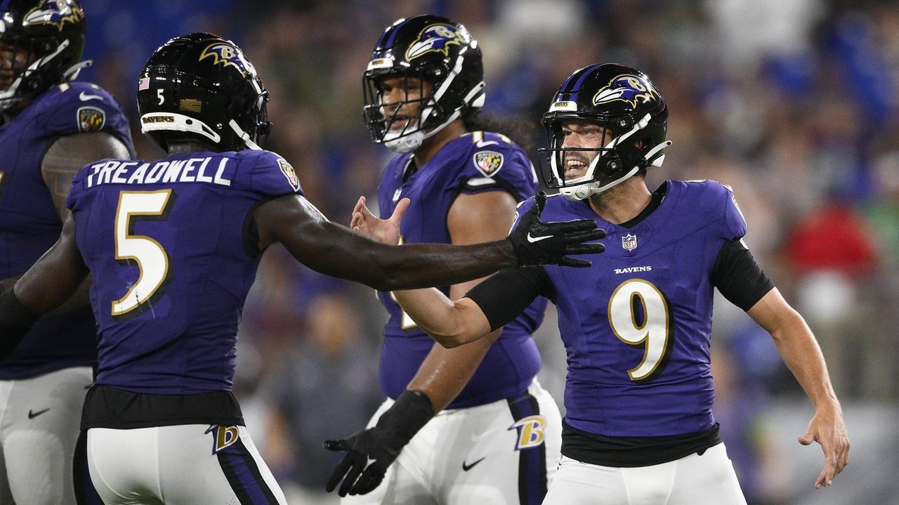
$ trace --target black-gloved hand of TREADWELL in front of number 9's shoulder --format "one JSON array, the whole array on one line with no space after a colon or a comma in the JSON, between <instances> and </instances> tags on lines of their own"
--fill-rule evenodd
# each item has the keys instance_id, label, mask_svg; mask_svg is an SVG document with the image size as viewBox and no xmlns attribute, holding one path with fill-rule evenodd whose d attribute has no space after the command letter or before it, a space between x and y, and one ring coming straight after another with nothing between
<instances>
[{"instance_id":1,"label":"black-gloved hand of TREADWELL in front of number 9's shoulder","mask_svg":"<svg viewBox=\"0 0 899 505\"><path fill-rule=\"evenodd\" d=\"M602 244L583 244L606 236L605 230L596 227L592 219L578 219L564 223L544 223L540 214L547 201L547 194L540 191L534 198L534 206L521 217L518 226L506 237L512 242L518 266L556 264L565 267L589 267L590 261L574 260L568 254L595 254L605 251Z\"/></svg>"}]
</instances>

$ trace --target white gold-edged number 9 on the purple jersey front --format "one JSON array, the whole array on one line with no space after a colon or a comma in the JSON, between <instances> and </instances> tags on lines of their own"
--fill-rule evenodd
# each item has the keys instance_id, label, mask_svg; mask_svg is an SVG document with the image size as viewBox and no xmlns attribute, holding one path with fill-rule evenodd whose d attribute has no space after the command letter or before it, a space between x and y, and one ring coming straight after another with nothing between
<instances>
[{"instance_id":1,"label":"white gold-edged number 9 on the purple jersey front","mask_svg":"<svg viewBox=\"0 0 899 505\"><path fill-rule=\"evenodd\" d=\"M663 372L671 357L670 321L668 300L644 279L626 280L609 298L612 332L628 345L645 348L640 364L628 370L634 382L649 382Z\"/></svg>"}]
</instances>

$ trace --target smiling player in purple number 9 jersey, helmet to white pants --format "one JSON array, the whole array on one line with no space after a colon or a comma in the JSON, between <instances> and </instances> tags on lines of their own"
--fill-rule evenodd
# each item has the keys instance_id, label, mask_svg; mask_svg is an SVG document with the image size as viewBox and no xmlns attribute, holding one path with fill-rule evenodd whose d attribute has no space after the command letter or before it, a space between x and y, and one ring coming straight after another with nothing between
<instances>
[{"instance_id":1,"label":"smiling player in purple number 9 jersey, helmet to white pants","mask_svg":"<svg viewBox=\"0 0 899 505\"><path fill-rule=\"evenodd\" d=\"M801 315L743 243L734 193L713 181L666 181L660 166L668 108L648 77L619 65L568 77L543 117L544 182L559 195L528 200L553 219L592 219L607 234L587 270L504 270L456 302L436 289L397 292L406 312L449 347L478 341L535 297L559 313L568 357L562 462L544 503L746 503L712 416L712 295L770 332L814 418L799 442L821 444L816 486L849 462L850 442L821 350ZM389 241L403 228L359 204L354 225Z\"/></svg>"}]
</instances>

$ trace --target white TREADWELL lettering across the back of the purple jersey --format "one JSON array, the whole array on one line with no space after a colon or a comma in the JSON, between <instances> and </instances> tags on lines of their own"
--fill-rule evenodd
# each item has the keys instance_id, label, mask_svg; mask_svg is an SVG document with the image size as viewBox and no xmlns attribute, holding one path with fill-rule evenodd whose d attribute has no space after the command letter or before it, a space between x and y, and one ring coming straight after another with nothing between
<instances>
[{"instance_id":1,"label":"white TREADWELL lettering across the back of the purple jersey","mask_svg":"<svg viewBox=\"0 0 899 505\"><path fill-rule=\"evenodd\" d=\"M208 167L211 157L186 160L165 160L155 163L111 160L91 165L93 172L87 176L87 187L98 184L156 184L170 182L209 182L230 186L225 179L228 158L221 158L218 168ZM215 175L212 171L215 170Z\"/></svg>"}]
</instances>

